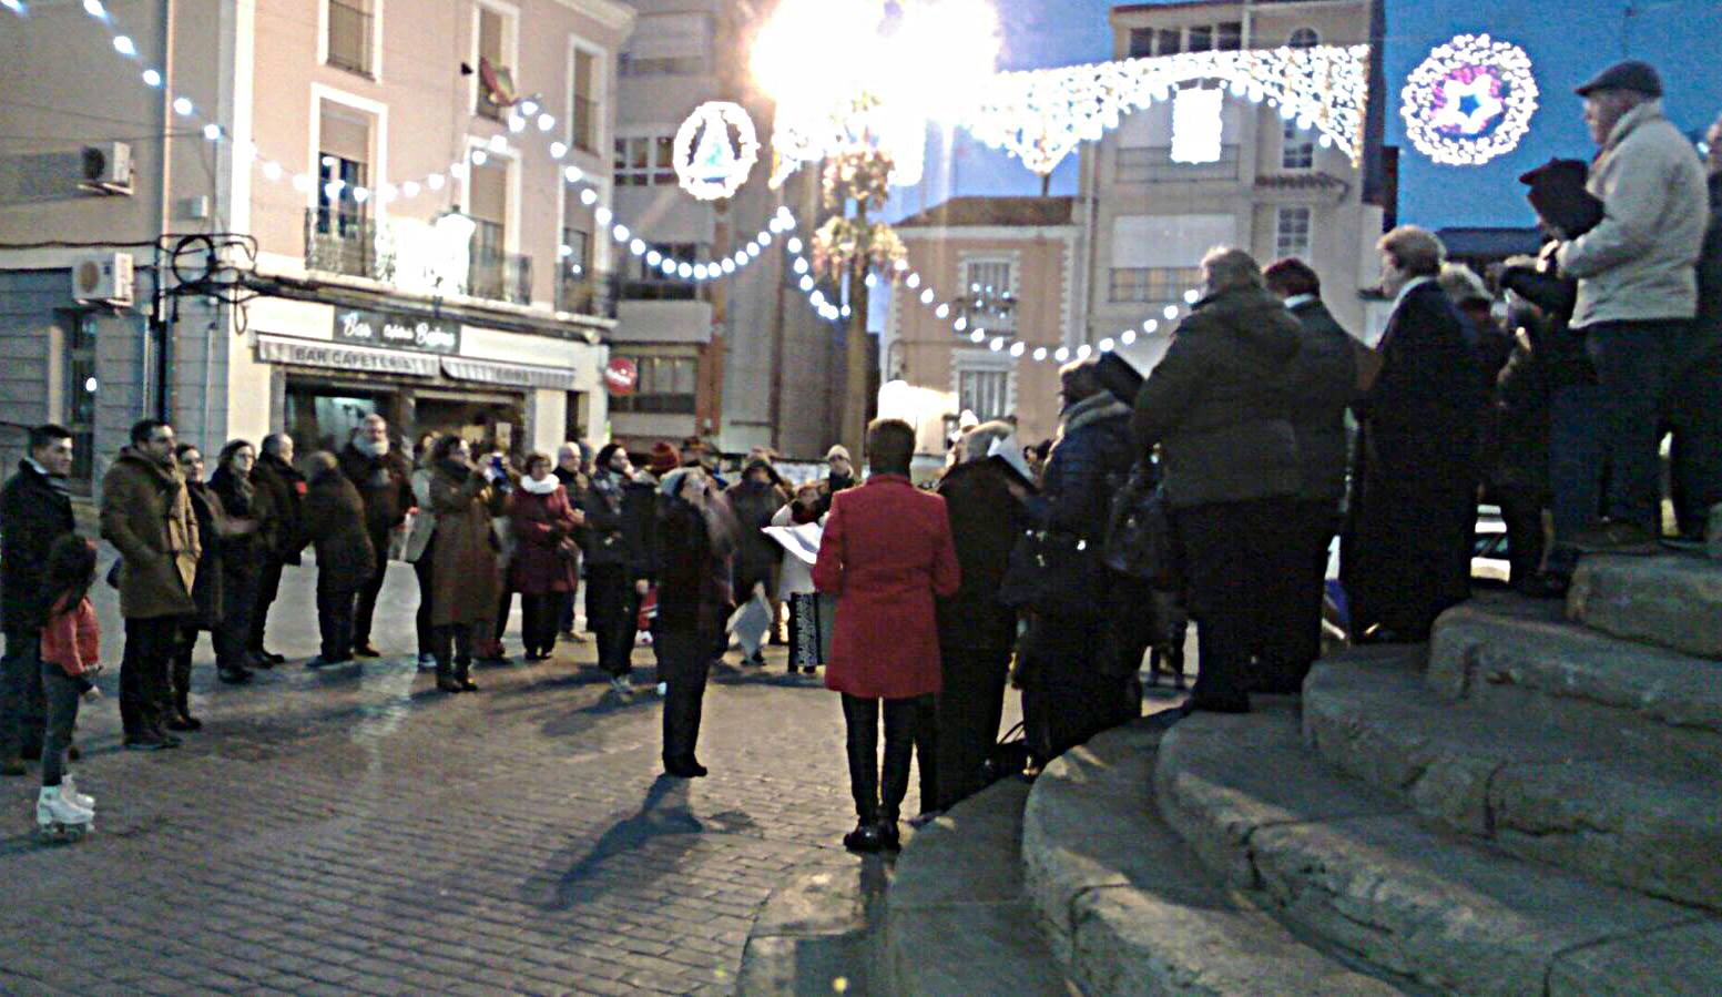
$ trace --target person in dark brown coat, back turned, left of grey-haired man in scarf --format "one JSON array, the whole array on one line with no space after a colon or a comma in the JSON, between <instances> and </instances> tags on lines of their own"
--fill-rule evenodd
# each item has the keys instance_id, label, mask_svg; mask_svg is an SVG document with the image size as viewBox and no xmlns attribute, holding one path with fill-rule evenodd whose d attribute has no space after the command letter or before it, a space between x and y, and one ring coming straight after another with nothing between
<instances>
[{"instance_id":1,"label":"person in dark brown coat, back turned, left of grey-haired man in scarf","mask_svg":"<svg viewBox=\"0 0 1722 997\"><path fill-rule=\"evenodd\" d=\"M365 499L341 474L336 456L317 451L305 460L305 536L317 551L317 629L322 653L307 668L353 660L353 613L358 591L377 570L377 553L365 529ZM384 551L386 554L387 551Z\"/></svg>"}]
</instances>

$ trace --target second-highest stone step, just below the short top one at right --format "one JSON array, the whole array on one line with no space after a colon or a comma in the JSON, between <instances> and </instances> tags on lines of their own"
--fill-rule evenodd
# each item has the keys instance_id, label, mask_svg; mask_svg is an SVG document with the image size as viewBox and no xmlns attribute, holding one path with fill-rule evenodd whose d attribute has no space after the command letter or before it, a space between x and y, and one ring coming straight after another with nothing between
<instances>
[{"instance_id":1,"label":"second-highest stone step, just below the short top one at right","mask_svg":"<svg viewBox=\"0 0 1722 997\"><path fill-rule=\"evenodd\" d=\"M1627 756L1722 763L1722 663L1598 634L1550 618L1545 606L1472 601L1443 613L1429 642L1429 685L1443 699L1583 734Z\"/></svg>"}]
</instances>

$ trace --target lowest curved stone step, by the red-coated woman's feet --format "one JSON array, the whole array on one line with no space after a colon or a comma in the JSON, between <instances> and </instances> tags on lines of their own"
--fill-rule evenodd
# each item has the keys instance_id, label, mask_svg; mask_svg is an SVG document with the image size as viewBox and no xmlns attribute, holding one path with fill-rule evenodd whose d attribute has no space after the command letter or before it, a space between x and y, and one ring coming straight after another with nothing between
<instances>
[{"instance_id":1,"label":"lowest curved stone step, by the red-coated woman's feet","mask_svg":"<svg viewBox=\"0 0 1722 997\"><path fill-rule=\"evenodd\" d=\"M920 828L885 894L878 994L1064 997L1023 894L1028 785L1004 780Z\"/></svg>"}]
</instances>

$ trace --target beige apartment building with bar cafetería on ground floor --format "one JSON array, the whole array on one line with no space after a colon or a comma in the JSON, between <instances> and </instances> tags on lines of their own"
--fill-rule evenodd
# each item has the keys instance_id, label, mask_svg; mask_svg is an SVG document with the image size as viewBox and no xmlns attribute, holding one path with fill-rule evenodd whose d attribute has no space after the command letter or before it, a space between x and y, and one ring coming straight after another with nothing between
<instances>
[{"instance_id":1,"label":"beige apartment building with bar cafeter\u00eda on ground floor","mask_svg":"<svg viewBox=\"0 0 1722 997\"><path fill-rule=\"evenodd\" d=\"M69 424L77 487L153 413L301 451L372 412L515 451L604 429L632 9L95 10L0 10L0 420Z\"/></svg>"}]
</instances>

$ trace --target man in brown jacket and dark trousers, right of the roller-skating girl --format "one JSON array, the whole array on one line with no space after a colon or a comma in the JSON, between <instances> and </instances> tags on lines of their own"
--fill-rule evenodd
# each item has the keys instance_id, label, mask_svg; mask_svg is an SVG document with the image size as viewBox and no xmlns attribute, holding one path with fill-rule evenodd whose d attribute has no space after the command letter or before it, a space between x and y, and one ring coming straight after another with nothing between
<instances>
[{"instance_id":1,"label":"man in brown jacket and dark trousers, right of the roller-skating girl","mask_svg":"<svg viewBox=\"0 0 1722 997\"><path fill-rule=\"evenodd\" d=\"M174 467L174 427L145 418L131 446L102 479L102 537L121 554L119 611L126 651L119 666L119 715L126 747L179 747L162 730L170 701L167 663L181 623L196 613L191 591L203 548L186 479Z\"/></svg>"}]
</instances>

